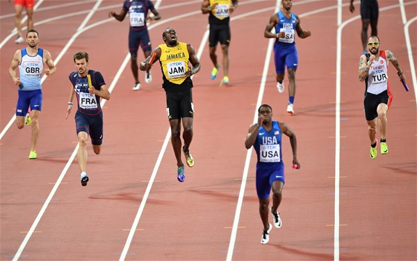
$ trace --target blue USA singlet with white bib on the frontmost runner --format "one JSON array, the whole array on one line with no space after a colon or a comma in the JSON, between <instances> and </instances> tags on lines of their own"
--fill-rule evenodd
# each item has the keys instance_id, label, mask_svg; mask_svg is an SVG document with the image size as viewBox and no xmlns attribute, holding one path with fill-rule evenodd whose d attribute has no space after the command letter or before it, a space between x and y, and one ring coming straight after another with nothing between
<instances>
[{"instance_id":1,"label":"blue USA singlet with white bib on the frontmost runner","mask_svg":"<svg viewBox=\"0 0 417 261\"><path fill-rule=\"evenodd\" d=\"M258 156L256 169L259 167L274 167L282 165L282 151L281 151L281 129L278 121L272 121L272 129L265 130L263 126L259 128L254 149Z\"/></svg>"}]
</instances>

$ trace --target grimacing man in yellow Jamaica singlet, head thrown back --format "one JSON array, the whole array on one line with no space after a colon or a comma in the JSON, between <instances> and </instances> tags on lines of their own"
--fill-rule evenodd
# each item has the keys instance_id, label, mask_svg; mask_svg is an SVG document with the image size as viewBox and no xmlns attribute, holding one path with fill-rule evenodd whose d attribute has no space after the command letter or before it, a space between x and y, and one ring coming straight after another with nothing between
<instances>
[{"instance_id":1,"label":"grimacing man in yellow Jamaica singlet, head thrown back","mask_svg":"<svg viewBox=\"0 0 417 261\"><path fill-rule=\"evenodd\" d=\"M173 28L166 28L162 33L162 39L165 44L159 44L148 58L140 62L140 70L149 71L152 64L159 60L163 73L162 87L167 96L167 115L171 127L172 148L175 158L177 158L177 178L179 182L183 182L186 175L181 160L181 119L184 128L182 152L186 157L188 167L193 167L194 159L189 150L191 140L193 140L194 116L191 76L197 74L200 63L195 56L193 46L177 42L177 32Z\"/></svg>"}]
</instances>

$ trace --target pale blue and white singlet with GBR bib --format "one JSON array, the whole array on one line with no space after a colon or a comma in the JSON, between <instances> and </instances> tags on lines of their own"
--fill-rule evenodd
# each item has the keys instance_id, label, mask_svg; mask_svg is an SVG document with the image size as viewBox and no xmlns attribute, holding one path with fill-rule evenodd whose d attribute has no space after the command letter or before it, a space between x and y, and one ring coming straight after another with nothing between
<instances>
[{"instance_id":1,"label":"pale blue and white singlet with GBR bib","mask_svg":"<svg viewBox=\"0 0 417 261\"><path fill-rule=\"evenodd\" d=\"M22 49L22 60L19 64L19 90L31 91L42 89L40 75L43 71L43 49L38 49L35 56L29 56L26 48Z\"/></svg>"}]
</instances>

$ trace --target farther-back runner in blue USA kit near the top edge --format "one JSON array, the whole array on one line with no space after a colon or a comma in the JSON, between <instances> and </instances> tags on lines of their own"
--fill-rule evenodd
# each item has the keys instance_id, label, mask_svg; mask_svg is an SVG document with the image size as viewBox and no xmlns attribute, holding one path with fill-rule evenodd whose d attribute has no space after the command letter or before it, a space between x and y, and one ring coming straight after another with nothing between
<instances>
[{"instance_id":1,"label":"farther-back runner in blue USA kit near the top edge","mask_svg":"<svg viewBox=\"0 0 417 261\"><path fill-rule=\"evenodd\" d=\"M274 44L275 71L277 72L278 92L284 92L285 67L288 70L288 106L287 112L294 114L295 99L295 71L298 67L298 53L295 47L295 33L298 37L306 38L310 31L304 31L300 25L300 18L291 12L293 0L282 0L282 8L270 17L263 35L266 38L276 38ZM275 27L275 33L271 33Z\"/></svg>"}]
</instances>

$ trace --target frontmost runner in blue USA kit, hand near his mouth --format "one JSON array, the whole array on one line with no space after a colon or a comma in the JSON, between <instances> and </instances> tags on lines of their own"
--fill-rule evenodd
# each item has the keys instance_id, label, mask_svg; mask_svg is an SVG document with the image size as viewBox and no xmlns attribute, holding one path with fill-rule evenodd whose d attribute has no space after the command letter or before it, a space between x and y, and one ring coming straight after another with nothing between
<instances>
[{"instance_id":1,"label":"frontmost runner in blue USA kit, hand near his mouth","mask_svg":"<svg viewBox=\"0 0 417 261\"><path fill-rule=\"evenodd\" d=\"M297 160L297 138L291 128L284 122L272 121L272 108L263 104L258 109L258 123L252 124L245 140L246 149L254 146L258 162L256 163L256 193L259 199L263 233L261 244L268 244L272 225L268 222L269 197L272 188L271 214L275 228L281 228L278 207L284 188L284 162L282 161L281 134L290 138L293 150L293 167L300 169Z\"/></svg>"}]
</instances>

